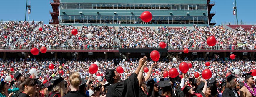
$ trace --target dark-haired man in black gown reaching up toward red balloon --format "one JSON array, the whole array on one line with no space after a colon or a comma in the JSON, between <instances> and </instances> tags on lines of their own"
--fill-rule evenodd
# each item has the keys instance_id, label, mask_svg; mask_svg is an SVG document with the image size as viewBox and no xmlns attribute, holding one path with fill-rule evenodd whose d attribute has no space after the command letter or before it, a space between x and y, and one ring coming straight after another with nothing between
<instances>
[{"instance_id":1,"label":"dark-haired man in black gown reaching up toward red balloon","mask_svg":"<svg viewBox=\"0 0 256 97\"><path fill-rule=\"evenodd\" d=\"M137 75L142 65L147 61L147 57L143 57L139 60L139 66L129 78L119 82L121 79L119 73L114 69L110 69L106 72L106 80L110 86L106 97L138 97L139 96L139 81Z\"/></svg>"}]
</instances>

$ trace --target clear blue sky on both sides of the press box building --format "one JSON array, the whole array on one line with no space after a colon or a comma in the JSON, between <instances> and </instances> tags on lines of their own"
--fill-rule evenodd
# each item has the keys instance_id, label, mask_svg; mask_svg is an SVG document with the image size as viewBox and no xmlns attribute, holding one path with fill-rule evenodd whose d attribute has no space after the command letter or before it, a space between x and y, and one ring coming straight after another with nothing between
<instances>
[{"instance_id":1,"label":"clear blue sky on both sides of the press box building","mask_svg":"<svg viewBox=\"0 0 256 97\"><path fill-rule=\"evenodd\" d=\"M216 20L217 24L234 23L232 7L234 0L211 0L215 2L212 11L216 11L212 20ZM256 0L236 0L238 22L242 20L244 23L256 22ZM31 14L29 20L44 21L49 24L52 10L49 0L28 0L31 5ZM0 20L25 20L26 0L1 0Z\"/></svg>"}]
</instances>

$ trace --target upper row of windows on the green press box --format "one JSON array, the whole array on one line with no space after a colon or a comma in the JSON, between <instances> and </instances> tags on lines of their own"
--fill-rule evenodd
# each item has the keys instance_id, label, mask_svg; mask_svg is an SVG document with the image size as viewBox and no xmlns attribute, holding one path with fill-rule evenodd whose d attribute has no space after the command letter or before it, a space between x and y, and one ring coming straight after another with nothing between
<instances>
[{"instance_id":1,"label":"upper row of windows on the green press box","mask_svg":"<svg viewBox=\"0 0 256 97\"><path fill-rule=\"evenodd\" d=\"M61 9L207 10L206 4L67 4Z\"/></svg>"}]
</instances>

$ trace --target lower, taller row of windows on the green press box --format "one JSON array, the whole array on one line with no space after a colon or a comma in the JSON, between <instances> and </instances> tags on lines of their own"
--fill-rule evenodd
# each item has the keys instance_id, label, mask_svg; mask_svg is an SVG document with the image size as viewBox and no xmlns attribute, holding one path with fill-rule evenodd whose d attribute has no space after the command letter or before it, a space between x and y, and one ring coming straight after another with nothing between
<instances>
[{"instance_id":1,"label":"lower, taller row of windows on the green press box","mask_svg":"<svg viewBox=\"0 0 256 97\"><path fill-rule=\"evenodd\" d=\"M139 16L60 16L60 23L145 24ZM153 16L148 24L208 24L207 16Z\"/></svg>"}]
</instances>

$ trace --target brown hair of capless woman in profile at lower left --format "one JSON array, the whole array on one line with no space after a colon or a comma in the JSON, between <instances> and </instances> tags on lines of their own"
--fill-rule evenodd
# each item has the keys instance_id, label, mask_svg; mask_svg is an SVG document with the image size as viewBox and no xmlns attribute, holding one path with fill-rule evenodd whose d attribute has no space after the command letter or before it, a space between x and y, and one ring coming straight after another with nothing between
<instances>
[{"instance_id":1,"label":"brown hair of capless woman in profile at lower left","mask_svg":"<svg viewBox=\"0 0 256 97\"><path fill-rule=\"evenodd\" d=\"M36 84L37 84L37 82L35 79L25 78L24 80L21 80L21 84L19 85L19 90L22 92L22 91L24 91L25 85L33 86Z\"/></svg>"}]
</instances>

